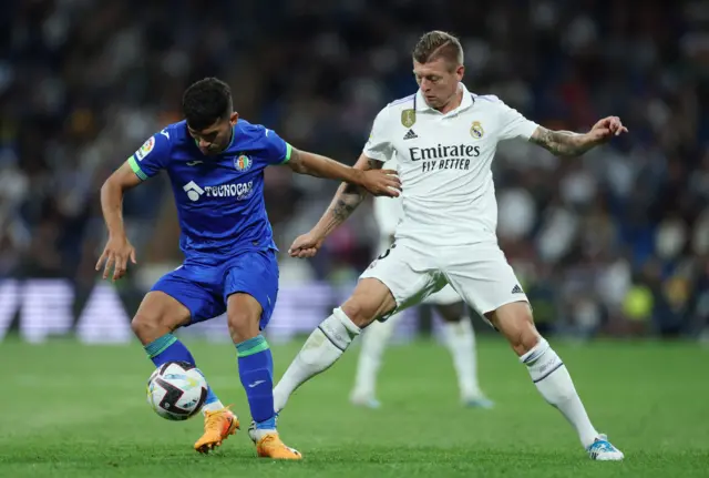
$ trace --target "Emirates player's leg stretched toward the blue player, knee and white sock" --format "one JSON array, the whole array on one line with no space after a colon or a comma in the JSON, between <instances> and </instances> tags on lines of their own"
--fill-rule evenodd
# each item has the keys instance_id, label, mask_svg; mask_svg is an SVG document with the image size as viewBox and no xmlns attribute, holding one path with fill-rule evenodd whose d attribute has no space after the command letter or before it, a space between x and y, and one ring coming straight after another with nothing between
<instances>
[{"instance_id":1,"label":"Emirates player's leg stretched toward the blue player, knee and white sock","mask_svg":"<svg viewBox=\"0 0 709 478\"><path fill-rule=\"evenodd\" d=\"M347 350L361 329L395 307L389 288L376 278L363 278L341 307L322 321L308 337L274 389L274 406L280 411L290 395L308 379L327 370Z\"/></svg>"}]
</instances>

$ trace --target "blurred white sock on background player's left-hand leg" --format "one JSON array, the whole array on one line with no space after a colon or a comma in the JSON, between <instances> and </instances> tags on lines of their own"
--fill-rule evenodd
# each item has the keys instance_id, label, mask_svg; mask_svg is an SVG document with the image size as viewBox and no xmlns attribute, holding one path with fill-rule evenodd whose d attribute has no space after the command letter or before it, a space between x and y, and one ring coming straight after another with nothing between
<instances>
[{"instance_id":1,"label":"blurred white sock on background player's left-hand leg","mask_svg":"<svg viewBox=\"0 0 709 478\"><path fill-rule=\"evenodd\" d=\"M394 314L384 322L374 321L362 333L352 397L374 398L381 357L400 316Z\"/></svg>"}]
</instances>

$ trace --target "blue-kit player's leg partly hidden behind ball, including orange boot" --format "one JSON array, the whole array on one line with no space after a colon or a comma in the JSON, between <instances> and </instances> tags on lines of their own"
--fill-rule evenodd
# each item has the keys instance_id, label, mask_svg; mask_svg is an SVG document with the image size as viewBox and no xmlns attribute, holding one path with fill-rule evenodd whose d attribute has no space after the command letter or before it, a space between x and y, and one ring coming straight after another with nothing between
<instances>
[{"instance_id":1,"label":"blue-kit player's leg partly hidden behind ball, including orange boot","mask_svg":"<svg viewBox=\"0 0 709 478\"><path fill-rule=\"evenodd\" d=\"M153 291L147 293L141 303L135 317L131 322L131 327L155 366L160 367L166 362L195 364L195 359L187 347L173 335L175 329L188 323L189 311L187 307L164 292ZM224 419L233 421L238 427L236 416L219 401L214 391L212 391L212 387L209 387L202 413L205 417L205 436L208 430L215 428L216 424L220 424ZM234 433L234 430L232 429L230 433ZM206 448L201 449L202 446L198 447L205 436L195 444L195 449L198 451L206 451Z\"/></svg>"}]
</instances>

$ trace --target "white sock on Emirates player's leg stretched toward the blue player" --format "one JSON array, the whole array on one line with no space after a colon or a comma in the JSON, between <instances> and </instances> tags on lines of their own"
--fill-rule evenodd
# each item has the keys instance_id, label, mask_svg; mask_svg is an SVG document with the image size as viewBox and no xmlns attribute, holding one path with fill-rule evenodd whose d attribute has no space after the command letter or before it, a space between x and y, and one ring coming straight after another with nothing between
<instances>
[{"instance_id":1,"label":"white sock on Emirates player's leg stretched toward the blue player","mask_svg":"<svg viewBox=\"0 0 709 478\"><path fill-rule=\"evenodd\" d=\"M278 385L274 388L274 408L280 411L288 398L308 379L330 368L337 362L360 328L350 321L341 308L322 321L308 337Z\"/></svg>"}]
</instances>

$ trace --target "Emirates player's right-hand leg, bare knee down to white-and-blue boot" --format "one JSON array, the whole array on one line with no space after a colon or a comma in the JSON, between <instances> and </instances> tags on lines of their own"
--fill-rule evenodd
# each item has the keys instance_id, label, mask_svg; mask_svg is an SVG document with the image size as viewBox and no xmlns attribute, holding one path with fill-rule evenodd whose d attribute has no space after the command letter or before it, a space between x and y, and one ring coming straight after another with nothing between
<instances>
[{"instance_id":1,"label":"Emirates player's right-hand leg, bare knee down to white-and-blue boot","mask_svg":"<svg viewBox=\"0 0 709 478\"><path fill-rule=\"evenodd\" d=\"M623 452L592 425L566 366L536 330L530 305L526 302L506 304L487 314L487 318L507 338L520 360L526 365L532 380L546 401L557 408L576 429L590 458L621 460Z\"/></svg>"}]
</instances>

